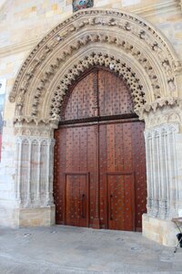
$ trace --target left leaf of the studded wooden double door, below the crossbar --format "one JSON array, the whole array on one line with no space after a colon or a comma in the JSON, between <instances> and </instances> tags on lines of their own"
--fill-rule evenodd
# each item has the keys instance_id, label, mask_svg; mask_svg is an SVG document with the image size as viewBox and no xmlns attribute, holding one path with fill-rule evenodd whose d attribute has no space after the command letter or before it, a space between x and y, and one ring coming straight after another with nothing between
<instances>
[{"instance_id":1,"label":"left leaf of the studded wooden double door, below the crossbar","mask_svg":"<svg viewBox=\"0 0 182 274\"><path fill-rule=\"evenodd\" d=\"M64 218L63 215L63 212L66 212L66 201L72 203L68 199L67 195L69 194L70 197L73 198L73 201L75 201L75 199L79 200L80 198L78 198L78 196L80 194L77 192L72 193L73 188L75 187L79 189L80 187L84 187L83 185L85 184L83 183L84 177L82 175L77 175L77 177L76 175L69 175L65 177L65 174L86 173L89 174L90 182L90 212L86 213L86 216L89 216L89 226L92 226L96 217L96 211L98 210L98 201L96 197L98 182L97 127L95 125L63 127L56 131L55 137L56 184L54 184L54 193L56 203L56 223L66 224L66 218ZM75 181L73 178L75 178ZM78 201L78 203L80 203L80 201ZM71 204L69 204L69 206L71 206ZM78 210L78 207L76 210Z\"/></svg>"}]
</instances>

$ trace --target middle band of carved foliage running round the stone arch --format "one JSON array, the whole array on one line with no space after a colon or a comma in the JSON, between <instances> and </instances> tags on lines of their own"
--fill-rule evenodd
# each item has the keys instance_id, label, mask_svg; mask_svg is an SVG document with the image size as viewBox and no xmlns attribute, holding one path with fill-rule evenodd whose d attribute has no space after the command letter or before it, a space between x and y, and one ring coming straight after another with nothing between
<instances>
[{"instance_id":1,"label":"middle band of carved foliage running round the stone arch","mask_svg":"<svg viewBox=\"0 0 182 274\"><path fill-rule=\"evenodd\" d=\"M120 40L114 36L91 35L90 34L90 35L87 35L84 37L80 37L78 40L76 40L74 43L70 44L68 47L63 48L62 54L60 54L59 57L56 58L49 65L49 68L46 69L44 77L42 79L40 79L40 82L39 82L39 84L36 88L36 91L35 91L35 98L34 98L34 102L33 102L34 115L37 114L37 106L39 103L39 97L41 94L43 94L44 89L47 88L47 87L45 87L45 85L50 82L50 78L53 78L53 76L56 74L57 70L60 69L61 66L65 63L66 58L68 58L68 56L72 55L73 51L78 50L78 48L84 47L84 46L86 46L86 44L92 43L92 42L116 44L116 47L121 47L124 51L126 51L126 53L130 53L132 56L134 56L141 65L143 65L145 63L145 69L146 69L147 75L148 75L149 79L151 79L151 81L152 81L152 87L153 87L153 90L155 93L155 98L160 98L160 90L159 90L159 83L158 83L157 75L155 74L155 71L152 68L151 63L149 62L149 60L147 60L147 58L143 55L143 53L141 53L139 50L137 50L136 47L132 46L125 40ZM100 53L100 57L101 57L101 55L102 55L102 53ZM92 58L94 59L94 56ZM105 58L105 57L102 57L102 58ZM113 59L115 59L115 58L113 57ZM81 62L82 61L80 60L80 63ZM94 62L91 62L90 65L92 63L94 64ZM101 63L103 63L103 65L104 65L103 60ZM106 63L107 63L107 60L106 60ZM118 66L119 66L119 64L117 63L116 67L118 67ZM76 70L76 68L74 70ZM77 70L79 70L79 67ZM76 74L77 73L78 72L76 72ZM31 79L29 77L30 75L31 75L31 69L30 69L30 73L27 73L27 81L29 79ZM23 90L23 94L20 92L20 94L16 100L16 115L21 115L21 110L22 110L23 104L24 104L23 98L24 98L24 90ZM143 98L141 98L141 100L143 100ZM136 103L136 101L135 101L135 103ZM136 107L138 107L138 105Z\"/></svg>"}]
</instances>

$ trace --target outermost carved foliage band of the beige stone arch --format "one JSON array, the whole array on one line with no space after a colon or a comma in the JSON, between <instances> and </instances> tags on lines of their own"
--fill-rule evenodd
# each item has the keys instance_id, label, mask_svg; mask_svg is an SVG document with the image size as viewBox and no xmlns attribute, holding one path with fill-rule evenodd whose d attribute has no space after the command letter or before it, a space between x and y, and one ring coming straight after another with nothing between
<instances>
[{"instance_id":1,"label":"outermost carved foliage band of the beige stone arch","mask_svg":"<svg viewBox=\"0 0 182 274\"><path fill-rule=\"evenodd\" d=\"M75 16L66 19L66 21L56 26L53 31L42 39L25 60L15 80L14 89L9 96L10 101L15 101L16 94L18 94L18 98L16 99L17 109L21 111L23 108L25 93L29 89L30 83L34 81L37 69L43 65L50 54L53 54L56 47L61 47L62 43L65 42L68 37L73 36L74 33L78 35L78 32L84 27L98 25L106 27L106 29L107 27L113 26L120 28L122 30L121 37L124 37L123 31L130 32L130 35L132 35L135 40L139 39L139 41L142 41L144 51L146 51L146 48L148 52L152 49L152 54L154 54L154 56L156 55L155 61L161 68L161 71L164 71L166 74L166 82L169 90L171 90L171 92L177 90L175 71L181 70L181 64L178 62L177 56L172 48L167 44L165 37L158 34L153 26L141 20L139 17L108 10L89 9L79 11ZM145 61L143 66L145 68ZM157 73L154 79L156 76ZM160 79L160 82L164 82L164 79ZM162 87L158 86L158 90L160 88Z\"/></svg>"}]
</instances>

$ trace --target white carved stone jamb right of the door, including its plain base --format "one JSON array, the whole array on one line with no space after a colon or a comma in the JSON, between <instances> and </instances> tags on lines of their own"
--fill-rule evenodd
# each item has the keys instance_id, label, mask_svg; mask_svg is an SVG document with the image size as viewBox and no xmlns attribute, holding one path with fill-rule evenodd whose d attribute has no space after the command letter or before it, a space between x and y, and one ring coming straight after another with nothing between
<instances>
[{"instance_id":1,"label":"white carved stone jamb right of the door, including its plain base","mask_svg":"<svg viewBox=\"0 0 182 274\"><path fill-rule=\"evenodd\" d=\"M167 246L177 243L171 221L182 208L182 133L179 122L164 122L145 131L147 214L143 235Z\"/></svg>"}]
</instances>

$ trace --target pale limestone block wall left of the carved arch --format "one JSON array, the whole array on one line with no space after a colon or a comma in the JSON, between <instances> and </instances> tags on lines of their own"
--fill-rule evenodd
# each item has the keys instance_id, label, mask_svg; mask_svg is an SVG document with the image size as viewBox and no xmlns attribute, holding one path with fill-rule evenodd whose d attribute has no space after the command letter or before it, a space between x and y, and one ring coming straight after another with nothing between
<instances>
[{"instance_id":1,"label":"pale limestone block wall left of the carved arch","mask_svg":"<svg viewBox=\"0 0 182 274\"><path fill-rule=\"evenodd\" d=\"M72 14L69 1L4 1L0 6L0 79L6 79L2 161L0 163L0 222L5 226L26 226L27 220L19 217L15 189L15 135L13 119L15 104L8 94L23 61L35 44L66 16ZM42 209L43 211L43 209ZM25 212L25 211L24 211ZM35 209L34 209L35 212ZM46 217L30 216L29 224L50 224ZM23 213L23 216L25 214ZM45 216L48 213L45 212ZM27 217L28 218L28 217ZM39 218L39 221L37 220ZM20 219L20 222L17 220ZM48 219L48 217L47 217ZM31 223L32 222L32 223Z\"/></svg>"}]
</instances>

